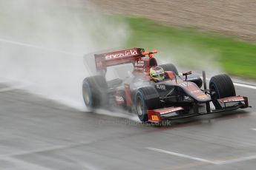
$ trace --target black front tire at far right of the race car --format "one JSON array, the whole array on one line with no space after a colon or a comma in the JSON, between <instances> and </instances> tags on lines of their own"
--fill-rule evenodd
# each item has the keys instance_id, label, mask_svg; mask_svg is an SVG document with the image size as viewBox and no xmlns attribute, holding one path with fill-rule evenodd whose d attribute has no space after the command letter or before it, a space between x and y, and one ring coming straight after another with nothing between
<instances>
[{"instance_id":1,"label":"black front tire at far right of the race car","mask_svg":"<svg viewBox=\"0 0 256 170\"><path fill-rule=\"evenodd\" d=\"M225 74L212 77L209 82L209 89L211 90L211 99L217 109L220 109L217 99L229 98L236 95L232 79L229 75Z\"/></svg>"}]
</instances>

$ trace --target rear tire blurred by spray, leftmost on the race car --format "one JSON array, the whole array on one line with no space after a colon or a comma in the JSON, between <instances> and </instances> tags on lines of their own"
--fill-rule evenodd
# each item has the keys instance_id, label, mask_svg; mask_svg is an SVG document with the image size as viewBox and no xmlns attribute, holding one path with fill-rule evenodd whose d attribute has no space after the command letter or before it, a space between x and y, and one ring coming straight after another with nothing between
<instances>
[{"instance_id":1,"label":"rear tire blurred by spray, leftmost on the race car","mask_svg":"<svg viewBox=\"0 0 256 170\"><path fill-rule=\"evenodd\" d=\"M104 106L108 101L108 84L102 75L85 78L82 83L82 96L89 109Z\"/></svg>"}]
</instances>

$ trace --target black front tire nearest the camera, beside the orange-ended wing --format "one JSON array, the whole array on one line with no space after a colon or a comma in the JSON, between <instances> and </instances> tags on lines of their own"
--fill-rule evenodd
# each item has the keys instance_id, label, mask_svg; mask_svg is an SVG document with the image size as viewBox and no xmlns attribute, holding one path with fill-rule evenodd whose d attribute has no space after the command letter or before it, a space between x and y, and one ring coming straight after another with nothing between
<instances>
[{"instance_id":1,"label":"black front tire nearest the camera, beside the orange-ended wing","mask_svg":"<svg viewBox=\"0 0 256 170\"><path fill-rule=\"evenodd\" d=\"M135 95L135 110L142 122L148 121L147 111L160 108L160 96L154 86L140 88Z\"/></svg>"}]
</instances>

